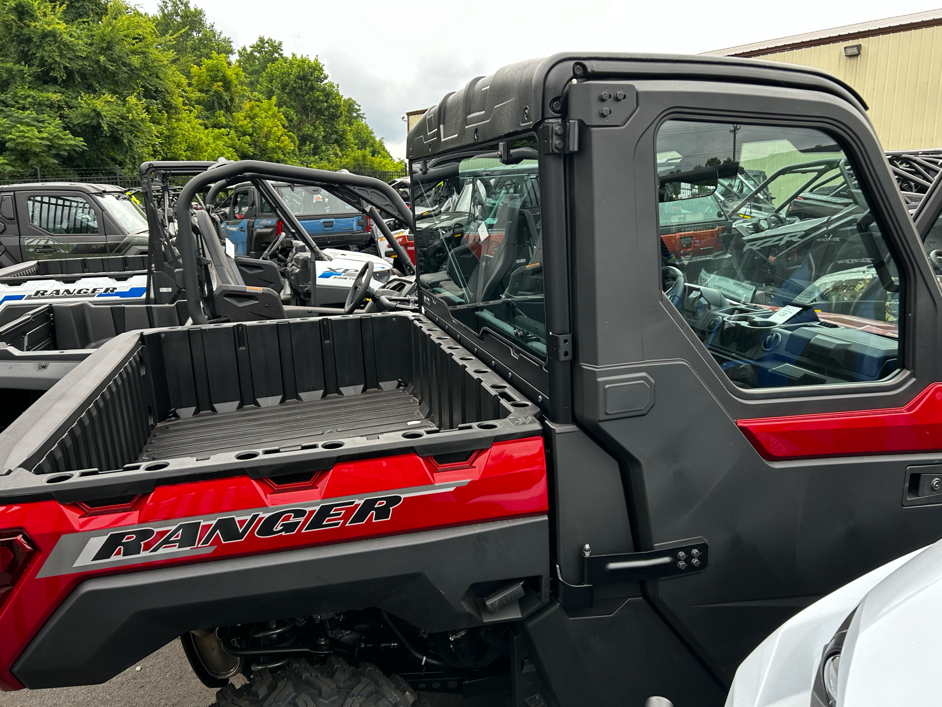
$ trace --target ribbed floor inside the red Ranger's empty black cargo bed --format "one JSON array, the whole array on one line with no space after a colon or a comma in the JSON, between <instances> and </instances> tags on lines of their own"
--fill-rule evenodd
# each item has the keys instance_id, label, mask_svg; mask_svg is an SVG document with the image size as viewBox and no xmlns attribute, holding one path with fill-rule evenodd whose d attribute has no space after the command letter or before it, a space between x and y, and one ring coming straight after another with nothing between
<instances>
[{"instance_id":1,"label":"ribbed floor inside the red Ranger's empty black cargo bed","mask_svg":"<svg viewBox=\"0 0 942 707\"><path fill-rule=\"evenodd\" d=\"M317 442L325 434L368 436L435 427L429 408L405 388L289 401L273 407L241 407L170 419L154 427L138 461L215 454L265 446L279 450Z\"/></svg>"}]
</instances>

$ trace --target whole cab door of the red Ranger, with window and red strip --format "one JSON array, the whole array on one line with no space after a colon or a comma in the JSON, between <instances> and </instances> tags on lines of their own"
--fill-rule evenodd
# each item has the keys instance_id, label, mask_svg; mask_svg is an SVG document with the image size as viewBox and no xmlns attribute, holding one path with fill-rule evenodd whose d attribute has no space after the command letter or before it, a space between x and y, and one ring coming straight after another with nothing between
<instances>
[{"instance_id":1,"label":"whole cab door of the red Ranger, with window and red strip","mask_svg":"<svg viewBox=\"0 0 942 707\"><path fill-rule=\"evenodd\" d=\"M919 485L942 451L940 290L839 97L585 81L569 110L588 123L569 173L575 417L619 461L634 551L707 543L642 596L728 686L788 617L942 536L942 494ZM710 165L777 176L701 219L685 199L722 187ZM835 189L828 214L789 206ZM708 252L665 241L720 211Z\"/></svg>"}]
</instances>

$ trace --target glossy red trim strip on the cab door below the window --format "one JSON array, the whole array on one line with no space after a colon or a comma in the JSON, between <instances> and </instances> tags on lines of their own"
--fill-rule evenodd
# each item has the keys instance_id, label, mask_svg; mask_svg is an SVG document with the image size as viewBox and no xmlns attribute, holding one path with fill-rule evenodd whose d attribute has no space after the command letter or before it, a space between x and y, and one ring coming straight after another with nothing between
<instances>
[{"instance_id":1,"label":"glossy red trim strip on the cab door below the window","mask_svg":"<svg viewBox=\"0 0 942 707\"><path fill-rule=\"evenodd\" d=\"M942 384L904 407L739 419L739 429L766 459L942 451Z\"/></svg>"}]
</instances>

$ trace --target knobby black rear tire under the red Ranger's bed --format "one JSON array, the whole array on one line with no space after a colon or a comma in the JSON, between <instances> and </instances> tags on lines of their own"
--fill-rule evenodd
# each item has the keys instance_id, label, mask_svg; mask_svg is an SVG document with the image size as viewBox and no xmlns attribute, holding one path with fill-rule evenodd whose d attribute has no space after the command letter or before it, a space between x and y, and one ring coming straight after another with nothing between
<instances>
[{"instance_id":1,"label":"knobby black rear tire under the red Ranger's bed","mask_svg":"<svg viewBox=\"0 0 942 707\"><path fill-rule=\"evenodd\" d=\"M349 666L332 656L323 666L292 660L275 673L252 673L239 688L230 683L216 693L211 707L427 707L396 675L387 678L377 666Z\"/></svg>"}]
</instances>

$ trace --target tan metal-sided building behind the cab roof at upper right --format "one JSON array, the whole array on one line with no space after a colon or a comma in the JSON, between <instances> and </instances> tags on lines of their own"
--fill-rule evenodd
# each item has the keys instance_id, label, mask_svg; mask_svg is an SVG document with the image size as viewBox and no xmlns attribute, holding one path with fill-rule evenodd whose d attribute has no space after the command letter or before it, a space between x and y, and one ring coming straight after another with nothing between
<instances>
[{"instance_id":1,"label":"tan metal-sided building behind the cab roof at upper right","mask_svg":"<svg viewBox=\"0 0 942 707\"><path fill-rule=\"evenodd\" d=\"M885 150L942 148L942 9L707 54L823 69L864 97Z\"/></svg>"}]
</instances>

